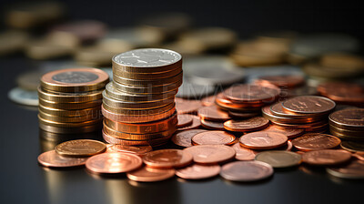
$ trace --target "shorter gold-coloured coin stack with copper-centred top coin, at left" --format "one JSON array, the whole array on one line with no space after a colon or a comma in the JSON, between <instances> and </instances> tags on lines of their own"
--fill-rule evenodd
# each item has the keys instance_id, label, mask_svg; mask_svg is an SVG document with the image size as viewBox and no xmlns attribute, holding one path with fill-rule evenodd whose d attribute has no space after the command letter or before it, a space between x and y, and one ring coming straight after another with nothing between
<instances>
[{"instance_id":1,"label":"shorter gold-coloured coin stack with copper-centred top coin, at left","mask_svg":"<svg viewBox=\"0 0 364 204\"><path fill-rule=\"evenodd\" d=\"M102 127L106 72L70 68L46 73L38 87L39 128L58 134L87 133Z\"/></svg>"}]
</instances>

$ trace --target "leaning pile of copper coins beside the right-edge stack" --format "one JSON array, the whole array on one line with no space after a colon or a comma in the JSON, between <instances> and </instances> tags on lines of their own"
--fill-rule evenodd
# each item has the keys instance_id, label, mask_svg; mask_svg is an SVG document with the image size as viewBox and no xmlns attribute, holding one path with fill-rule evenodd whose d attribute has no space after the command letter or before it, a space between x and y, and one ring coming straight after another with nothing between
<instances>
[{"instance_id":1,"label":"leaning pile of copper coins beside the right-edge stack","mask_svg":"<svg viewBox=\"0 0 364 204\"><path fill-rule=\"evenodd\" d=\"M334 101L327 97L292 97L272 106L263 107L263 117L284 128L300 128L306 132L325 132L328 116L335 108Z\"/></svg>"}]
</instances>

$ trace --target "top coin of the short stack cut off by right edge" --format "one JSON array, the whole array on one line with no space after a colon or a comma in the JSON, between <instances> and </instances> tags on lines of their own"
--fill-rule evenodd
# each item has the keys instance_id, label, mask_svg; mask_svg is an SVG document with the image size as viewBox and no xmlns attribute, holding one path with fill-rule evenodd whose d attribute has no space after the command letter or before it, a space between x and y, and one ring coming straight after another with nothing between
<instances>
[{"instance_id":1,"label":"top coin of the short stack cut off by right edge","mask_svg":"<svg viewBox=\"0 0 364 204\"><path fill-rule=\"evenodd\" d=\"M364 108L335 111L329 116L329 123L338 128L364 131Z\"/></svg>"}]
</instances>

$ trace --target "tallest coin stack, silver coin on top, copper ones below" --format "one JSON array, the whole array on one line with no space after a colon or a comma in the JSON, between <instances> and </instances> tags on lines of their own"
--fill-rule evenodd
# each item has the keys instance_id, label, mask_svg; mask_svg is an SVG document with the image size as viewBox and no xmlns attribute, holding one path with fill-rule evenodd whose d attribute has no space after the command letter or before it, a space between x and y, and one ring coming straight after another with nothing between
<instances>
[{"instance_id":1,"label":"tallest coin stack, silver coin on top, copper ones below","mask_svg":"<svg viewBox=\"0 0 364 204\"><path fill-rule=\"evenodd\" d=\"M103 93L103 137L111 144L158 146L177 128L175 95L182 56L166 49L136 49L112 59L113 82Z\"/></svg>"}]
</instances>

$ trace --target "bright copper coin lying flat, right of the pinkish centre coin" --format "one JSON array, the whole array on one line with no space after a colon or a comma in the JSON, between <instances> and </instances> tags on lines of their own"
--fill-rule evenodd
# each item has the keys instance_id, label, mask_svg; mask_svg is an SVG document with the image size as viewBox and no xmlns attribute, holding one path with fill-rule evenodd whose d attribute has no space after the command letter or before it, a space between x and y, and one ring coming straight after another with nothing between
<instances>
[{"instance_id":1,"label":"bright copper coin lying flat, right of the pinkish centre coin","mask_svg":"<svg viewBox=\"0 0 364 204\"><path fill-rule=\"evenodd\" d=\"M258 131L243 135L239 142L244 148L271 149L287 144L288 138L282 133Z\"/></svg>"}]
</instances>

